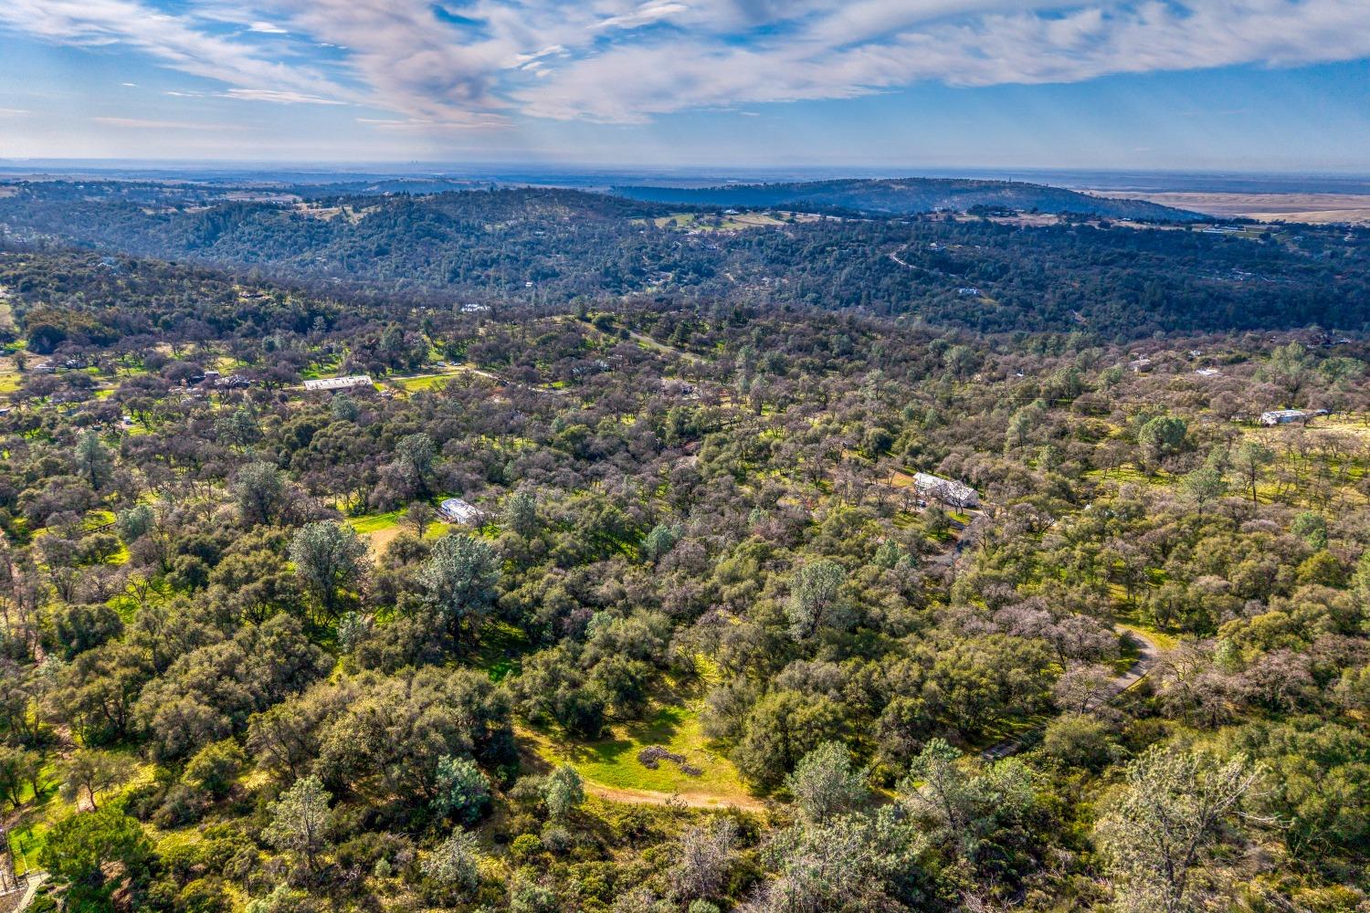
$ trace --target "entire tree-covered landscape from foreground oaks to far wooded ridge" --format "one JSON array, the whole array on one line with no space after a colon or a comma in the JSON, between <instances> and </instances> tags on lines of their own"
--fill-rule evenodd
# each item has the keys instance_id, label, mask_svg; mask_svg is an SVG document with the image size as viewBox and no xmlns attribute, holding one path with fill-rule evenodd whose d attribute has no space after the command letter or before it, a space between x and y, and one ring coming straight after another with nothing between
<instances>
[{"instance_id":1,"label":"entire tree-covered landscape from foreground oaks to far wooded ridge","mask_svg":"<svg viewBox=\"0 0 1370 913\"><path fill-rule=\"evenodd\" d=\"M1363 233L0 220L0 910L1370 908Z\"/></svg>"}]
</instances>

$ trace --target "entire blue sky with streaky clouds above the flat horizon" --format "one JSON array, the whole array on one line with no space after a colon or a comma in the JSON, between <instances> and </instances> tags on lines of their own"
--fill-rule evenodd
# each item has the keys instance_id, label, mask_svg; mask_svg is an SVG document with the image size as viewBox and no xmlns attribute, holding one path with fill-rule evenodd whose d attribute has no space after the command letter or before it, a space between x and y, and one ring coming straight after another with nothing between
<instances>
[{"instance_id":1,"label":"entire blue sky with streaky clouds above the flat horizon","mask_svg":"<svg viewBox=\"0 0 1370 913\"><path fill-rule=\"evenodd\" d=\"M0 159L1370 172L1370 0L0 0Z\"/></svg>"}]
</instances>

